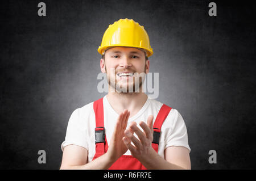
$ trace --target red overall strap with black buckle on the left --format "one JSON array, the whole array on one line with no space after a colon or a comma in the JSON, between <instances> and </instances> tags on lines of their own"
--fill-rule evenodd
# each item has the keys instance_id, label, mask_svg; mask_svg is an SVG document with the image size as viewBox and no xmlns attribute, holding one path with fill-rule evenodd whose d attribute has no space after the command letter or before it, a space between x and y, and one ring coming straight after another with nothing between
<instances>
[{"instance_id":1,"label":"red overall strap with black buckle on the left","mask_svg":"<svg viewBox=\"0 0 256 181\"><path fill-rule=\"evenodd\" d=\"M93 110L96 119L96 128L95 131L102 130L104 131L104 110L103 110L103 98L94 101ZM102 154L106 153L108 150L108 142L106 141L105 135L105 144L104 142L96 143L96 154L94 157L100 157Z\"/></svg>"}]
</instances>

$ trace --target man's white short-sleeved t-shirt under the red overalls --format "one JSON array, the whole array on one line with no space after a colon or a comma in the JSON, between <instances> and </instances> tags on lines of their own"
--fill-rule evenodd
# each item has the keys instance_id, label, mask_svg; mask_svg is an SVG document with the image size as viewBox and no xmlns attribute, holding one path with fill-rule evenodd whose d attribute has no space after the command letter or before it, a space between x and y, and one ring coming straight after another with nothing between
<instances>
[{"instance_id":1,"label":"man's white short-sleeved t-shirt under the red overalls","mask_svg":"<svg viewBox=\"0 0 256 181\"><path fill-rule=\"evenodd\" d=\"M154 115L153 123L155 123L156 116L158 115L162 105L163 103L160 103L155 99L148 98L142 109L133 117L129 117L127 128L132 121L135 121L138 128L143 131L139 126L139 122L144 121L147 123L147 117L149 115ZM103 107L106 139L108 145L110 145L118 114L113 110L112 106L110 106L106 95L103 98ZM93 110L93 102L86 104L81 108L77 108L73 111L69 119L65 141L61 144L61 150L63 151L64 146L71 144L82 146L88 150L88 162L91 162L96 152L94 135L95 127L96 120ZM134 136L137 137L135 133ZM191 151L188 145L188 134L184 120L180 113L174 108L171 109L161 127L158 154L163 158L164 149L168 146L184 146L189 150L189 153ZM127 150L125 155L131 155L130 150Z\"/></svg>"}]
</instances>

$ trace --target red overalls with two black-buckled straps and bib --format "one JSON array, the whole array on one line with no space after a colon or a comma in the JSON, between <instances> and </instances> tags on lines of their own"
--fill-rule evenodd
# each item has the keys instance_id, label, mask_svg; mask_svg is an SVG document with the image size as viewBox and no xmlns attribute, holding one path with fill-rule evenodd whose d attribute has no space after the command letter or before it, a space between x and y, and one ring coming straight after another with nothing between
<instances>
[{"instance_id":1,"label":"red overalls with two black-buckled straps and bib","mask_svg":"<svg viewBox=\"0 0 256 181\"><path fill-rule=\"evenodd\" d=\"M160 108L158 115L156 116L155 123L153 125L154 134L152 141L152 148L158 152L158 144L160 138L160 130L163 124L163 121L166 119L168 113L171 111L171 107L163 106ZM96 128L95 128L95 144L96 144L96 153L93 157L93 160L100 157L102 154L105 154L108 151L108 142L105 136L104 129L104 111L103 111L103 98L96 100L93 103L93 110L96 118ZM137 158L132 155L122 155L113 165L109 168L110 170L146 170L146 167L138 161Z\"/></svg>"}]
</instances>

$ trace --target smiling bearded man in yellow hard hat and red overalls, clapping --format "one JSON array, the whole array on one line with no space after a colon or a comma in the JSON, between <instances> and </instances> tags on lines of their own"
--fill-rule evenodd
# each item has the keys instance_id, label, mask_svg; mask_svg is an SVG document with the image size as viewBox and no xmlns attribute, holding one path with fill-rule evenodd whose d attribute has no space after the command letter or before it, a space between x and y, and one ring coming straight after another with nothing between
<instances>
[{"instance_id":1,"label":"smiling bearded man in yellow hard hat and red overalls, clapping","mask_svg":"<svg viewBox=\"0 0 256 181\"><path fill-rule=\"evenodd\" d=\"M149 99L143 78L136 78L148 73L153 53L144 27L118 20L105 31L98 52L109 92L72 113L60 169L191 169L180 113Z\"/></svg>"}]
</instances>

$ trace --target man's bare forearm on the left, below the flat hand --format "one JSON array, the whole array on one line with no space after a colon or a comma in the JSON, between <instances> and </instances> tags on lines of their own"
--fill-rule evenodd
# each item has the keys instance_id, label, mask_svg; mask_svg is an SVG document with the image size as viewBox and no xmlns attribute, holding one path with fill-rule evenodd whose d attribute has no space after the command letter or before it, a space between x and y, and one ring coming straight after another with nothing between
<instances>
[{"instance_id":1,"label":"man's bare forearm on the left, below the flat hand","mask_svg":"<svg viewBox=\"0 0 256 181\"><path fill-rule=\"evenodd\" d=\"M113 165L115 161L110 159L107 153L94 159L92 162L86 163L85 165L79 166L61 166L60 169L64 170L106 170Z\"/></svg>"}]
</instances>

